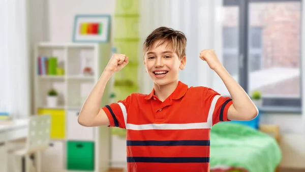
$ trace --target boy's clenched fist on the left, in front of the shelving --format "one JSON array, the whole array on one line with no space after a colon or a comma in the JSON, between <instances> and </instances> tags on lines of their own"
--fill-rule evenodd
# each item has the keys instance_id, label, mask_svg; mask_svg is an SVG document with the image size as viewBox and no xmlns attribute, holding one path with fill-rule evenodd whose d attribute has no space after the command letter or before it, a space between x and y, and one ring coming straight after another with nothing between
<instances>
[{"instance_id":1,"label":"boy's clenched fist on the left, in front of the shelving","mask_svg":"<svg viewBox=\"0 0 305 172\"><path fill-rule=\"evenodd\" d=\"M116 73L125 67L127 63L128 57L125 54L113 54L105 67L105 71Z\"/></svg>"}]
</instances>

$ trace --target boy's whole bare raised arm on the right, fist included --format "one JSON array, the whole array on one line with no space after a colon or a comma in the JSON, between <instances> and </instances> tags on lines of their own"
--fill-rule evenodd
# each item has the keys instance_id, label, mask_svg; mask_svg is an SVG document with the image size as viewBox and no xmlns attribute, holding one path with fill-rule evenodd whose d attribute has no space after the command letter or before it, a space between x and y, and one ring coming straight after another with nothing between
<instances>
[{"instance_id":1,"label":"boy's whole bare raised arm on the right, fist included","mask_svg":"<svg viewBox=\"0 0 305 172\"><path fill-rule=\"evenodd\" d=\"M258 110L245 90L233 79L218 60L214 50L203 50L200 58L205 60L226 85L233 104L228 110L229 120L252 120L258 115Z\"/></svg>"}]
</instances>

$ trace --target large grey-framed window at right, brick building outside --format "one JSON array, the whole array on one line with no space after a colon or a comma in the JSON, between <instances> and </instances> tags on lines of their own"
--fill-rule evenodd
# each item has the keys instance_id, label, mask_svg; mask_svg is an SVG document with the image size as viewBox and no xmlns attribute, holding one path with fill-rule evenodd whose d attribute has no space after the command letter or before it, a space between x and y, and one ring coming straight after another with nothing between
<instances>
[{"instance_id":1,"label":"large grey-framed window at right, brick building outside","mask_svg":"<svg viewBox=\"0 0 305 172\"><path fill-rule=\"evenodd\" d=\"M262 109L301 110L300 19L300 0L224 0L223 63Z\"/></svg>"}]
</instances>

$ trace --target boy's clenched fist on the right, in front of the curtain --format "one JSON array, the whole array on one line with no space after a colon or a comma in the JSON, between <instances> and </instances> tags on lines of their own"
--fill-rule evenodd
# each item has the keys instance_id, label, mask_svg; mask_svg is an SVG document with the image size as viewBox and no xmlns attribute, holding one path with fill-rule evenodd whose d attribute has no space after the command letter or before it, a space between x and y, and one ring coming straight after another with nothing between
<instances>
[{"instance_id":1,"label":"boy's clenched fist on the right, in front of the curtain","mask_svg":"<svg viewBox=\"0 0 305 172\"><path fill-rule=\"evenodd\" d=\"M222 66L214 50L202 50L199 57L207 62L211 70L215 70L217 67Z\"/></svg>"}]
</instances>

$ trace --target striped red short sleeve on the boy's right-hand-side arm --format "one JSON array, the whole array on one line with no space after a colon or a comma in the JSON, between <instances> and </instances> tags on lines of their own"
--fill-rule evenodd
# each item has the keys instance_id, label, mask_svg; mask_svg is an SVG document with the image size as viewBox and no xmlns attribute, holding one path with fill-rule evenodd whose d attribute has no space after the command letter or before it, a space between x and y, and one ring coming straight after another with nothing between
<instances>
[{"instance_id":1,"label":"striped red short sleeve on the boy's right-hand-side arm","mask_svg":"<svg viewBox=\"0 0 305 172\"><path fill-rule=\"evenodd\" d=\"M203 91L203 102L205 113L212 118L212 125L230 121L227 118L229 107L233 103L230 97L222 96L211 88L206 88Z\"/></svg>"}]
</instances>

